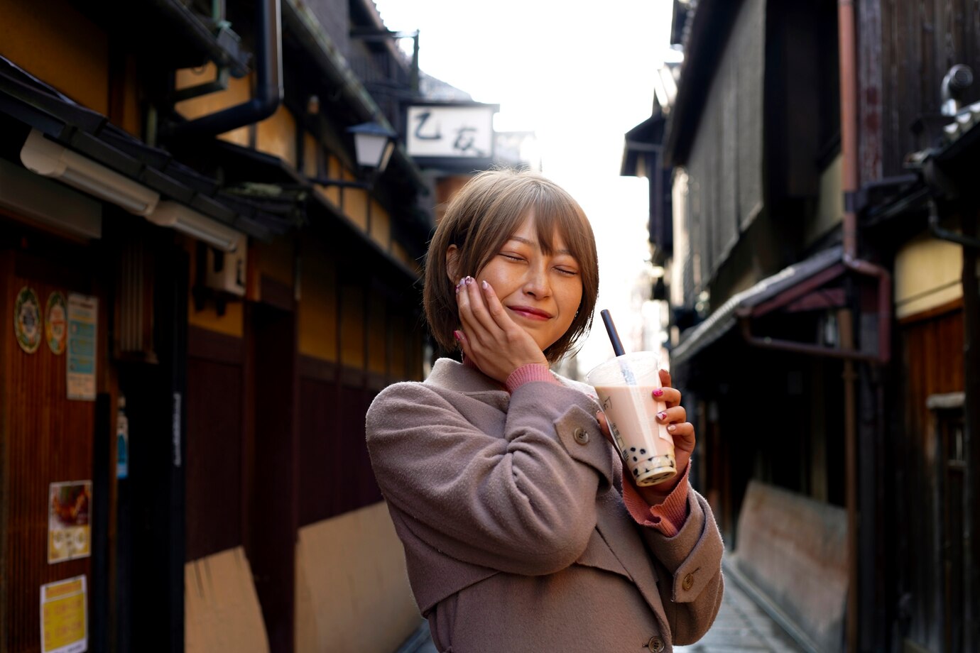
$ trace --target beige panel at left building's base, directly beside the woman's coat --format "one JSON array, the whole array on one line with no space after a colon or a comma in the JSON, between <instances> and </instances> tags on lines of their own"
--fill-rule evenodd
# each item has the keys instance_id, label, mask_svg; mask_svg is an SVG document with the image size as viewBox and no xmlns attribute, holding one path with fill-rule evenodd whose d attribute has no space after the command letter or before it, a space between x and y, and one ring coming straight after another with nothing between
<instances>
[{"instance_id":1,"label":"beige panel at left building's base, directly beside the woman's coat","mask_svg":"<svg viewBox=\"0 0 980 653\"><path fill-rule=\"evenodd\" d=\"M420 622L383 502L300 529L297 653L392 653Z\"/></svg>"}]
</instances>

